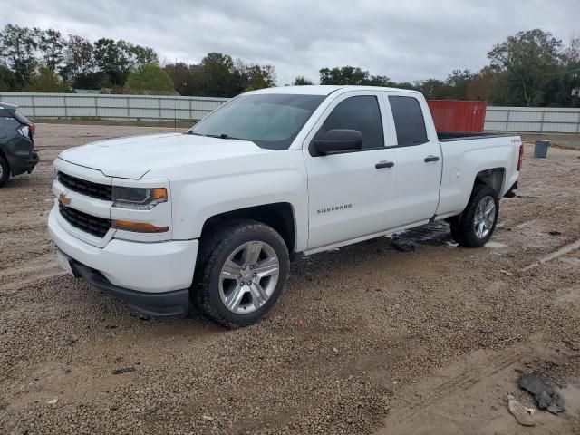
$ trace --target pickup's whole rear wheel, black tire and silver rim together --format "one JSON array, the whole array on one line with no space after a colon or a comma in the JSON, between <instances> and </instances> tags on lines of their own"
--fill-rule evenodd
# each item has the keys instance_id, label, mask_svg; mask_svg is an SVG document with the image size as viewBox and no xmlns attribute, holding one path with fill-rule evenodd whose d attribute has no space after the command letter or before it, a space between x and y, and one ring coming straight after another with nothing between
<instances>
[{"instance_id":1,"label":"pickup's whole rear wheel, black tire and silver rim together","mask_svg":"<svg viewBox=\"0 0 580 435\"><path fill-rule=\"evenodd\" d=\"M478 185L473 189L463 213L450 219L451 235L464 247L483 247L496 229L498 214L496 190Z\"/></svg>"}]
</instances>

